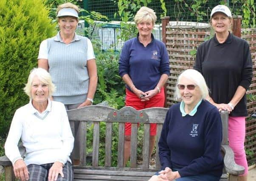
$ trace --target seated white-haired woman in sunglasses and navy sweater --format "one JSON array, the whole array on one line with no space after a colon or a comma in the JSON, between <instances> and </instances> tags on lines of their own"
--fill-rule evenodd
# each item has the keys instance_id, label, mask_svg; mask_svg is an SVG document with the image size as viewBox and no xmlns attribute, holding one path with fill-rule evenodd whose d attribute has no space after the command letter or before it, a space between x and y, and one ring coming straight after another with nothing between
<instances>
[{"instance_id":1,"label":"seated white-haired woman in sunglasses and navy sweater","mask_svg":"<svg viewBox=\"0 0 256 181\"><path fill-rule=\"evenodd\" d=\"M180 103L166 114L158 142L162 171L149 181L219 181L222 125L218 109L205 98L208 87L196 70L180 74L175 90Z\"/></svg>"}]
</instances>

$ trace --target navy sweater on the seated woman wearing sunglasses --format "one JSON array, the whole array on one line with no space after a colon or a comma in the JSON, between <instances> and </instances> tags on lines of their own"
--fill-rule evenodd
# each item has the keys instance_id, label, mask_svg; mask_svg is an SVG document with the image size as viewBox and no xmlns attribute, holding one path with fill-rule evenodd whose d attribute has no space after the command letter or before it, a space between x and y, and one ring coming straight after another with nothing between
<instances>
[{"instance_id":1,"label":"navy sweater on the seated woman wearing sunglasses","mask_svg":"<svg viewBox=\"0 0 256 181\"><path fill-rule=\"evenodd\" d=\"M222 124L219 111L202 100L194 116L181 116L180 103L166 114L159 145L162 170L177 169L180 176L209 174L220 177Z\"/></svg>"}]
</instances>

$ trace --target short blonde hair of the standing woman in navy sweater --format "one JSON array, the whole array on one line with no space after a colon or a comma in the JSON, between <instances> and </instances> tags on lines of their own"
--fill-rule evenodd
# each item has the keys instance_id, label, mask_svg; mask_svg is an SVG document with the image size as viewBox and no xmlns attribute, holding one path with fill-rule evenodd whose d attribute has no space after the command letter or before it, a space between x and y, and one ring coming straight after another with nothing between
<instances>
[{"instance_id":1,"label":"short blonde hair of the standing woman in navy sweater","mask_svg":"<svg viewBox=\"0 0 256 181\"><path fill-rule=\"evenodd\" d=\"M136 13L136 15L134 17L134 22L137 25L138 23L143 22L143 21L150 21L150 22L152 22L153 25L155 25L156 19L157 19L157 17L155 15L155 11L151 8L143 6Z\"/></svg>"}]
</instances>

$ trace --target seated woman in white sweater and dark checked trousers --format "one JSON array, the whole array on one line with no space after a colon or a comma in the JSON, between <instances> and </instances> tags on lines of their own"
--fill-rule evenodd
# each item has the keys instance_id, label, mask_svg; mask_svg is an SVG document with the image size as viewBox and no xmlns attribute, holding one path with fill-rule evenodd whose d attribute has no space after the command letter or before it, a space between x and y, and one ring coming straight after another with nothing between
<instances>
[{"instance_id":1,"label":"seated woman in white sweater and dark checked trousers","mask_svg":"<svg viewBox=\"0 0 256 181\"><path fill-rule=\"evenodd\" d=\"M5 152L21 181L72 181L70 153L74 138L64 104L49 99L54 92L51 75L35 68L24 90L30 97L16 110L5 143ZM26 154L18 149L21 139Z\"/></svg>"}]
</instances>

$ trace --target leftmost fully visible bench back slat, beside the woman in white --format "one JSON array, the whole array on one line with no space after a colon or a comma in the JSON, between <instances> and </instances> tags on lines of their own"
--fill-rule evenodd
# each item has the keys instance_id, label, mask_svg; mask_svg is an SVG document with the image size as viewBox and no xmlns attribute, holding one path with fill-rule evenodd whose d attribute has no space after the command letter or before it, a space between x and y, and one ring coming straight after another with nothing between
<instances>
[{"instance_id":1,"label":"leftmost fully visible bench back slat, beside the woman in white","mask_svg":"<svg viewBox=\"0 0 256 181\"><path fill-rule=\"evenodd\" d=\"M86 164L86 135L87 135L87 122L82 121L78 128L77 137L79 138L79 156L80 164Z\"/></svg>"}]
</instances>

